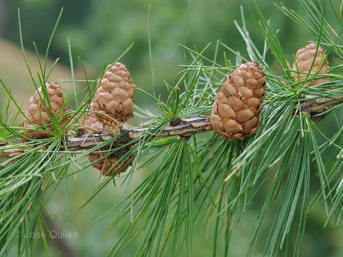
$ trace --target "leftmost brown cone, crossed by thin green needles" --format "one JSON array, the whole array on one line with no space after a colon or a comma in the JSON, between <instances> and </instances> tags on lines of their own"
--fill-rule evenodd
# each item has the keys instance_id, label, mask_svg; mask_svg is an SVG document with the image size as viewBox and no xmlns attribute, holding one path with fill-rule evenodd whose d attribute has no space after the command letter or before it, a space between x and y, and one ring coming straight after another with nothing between
<instances>
[{"instance_id":1,"label":"leftmost brown cone, crossed by thin green needles","mask_svg":"<svg viewBox=\"0 0 343 257\"><path fill-rule=\"evenodd\" d=\"M47 93L49 96L49 101L52 107L52 112L55 113L57 119L63 115L63 111L60 109L63 107L65 102L65 95L63 94L62 87L55 82L47 82L46 84ZM45 126L51 123L51 110L46 100L45 106L41 101L39 95L41 95L42 99L44 98L44 94L42 92L42 88L39 88L30 98L28 110L26 112L27 119L23 122L23 127L27 129L36 129L37 127ZM59 112L58 112L59 111ZM44 128L43 128L44 129ZM52 126L48 127L49 131L52 131ZM52 137L49 133L44 133L41 131L26 131L24 135L28 138L50 138Z\"/></svg>"}]
</instances>

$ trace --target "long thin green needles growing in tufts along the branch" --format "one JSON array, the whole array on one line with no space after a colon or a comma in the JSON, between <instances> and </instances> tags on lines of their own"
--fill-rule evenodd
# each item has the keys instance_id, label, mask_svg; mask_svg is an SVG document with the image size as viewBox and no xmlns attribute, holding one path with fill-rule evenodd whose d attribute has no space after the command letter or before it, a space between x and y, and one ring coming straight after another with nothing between
<instances>
[{"instance_id":1,"label":"long thin green needles growing in tufts along the branch","mask_svg":"<svg viewBox=\"0 0 343 257\"><path fill-rule=\"evenodd\" d=\"M305 22L294 11L285 7L280 8L302 28L316 36L317 43L327 46L329 51L333 50L342 59L339 34L335 35L332 30L328 30L328 23L324 19L326 1L319 7L316 7L311 0L300 0L300 2L312 17L310 20L313 24ZM333 7L331 1L329 3ZM187 21L192 10L191 3L189 6ZM130 217L130 222L125 224L123 234L110 250L109 256L116 256L122 247L137 238L141 240L136 256L187 255L195 247L192 242L195 237L194 225L197 222L205 226L213 224L213 256L217 255L220 241L224 242L224 256L228 256L232 231L243 219L244 211L256 200L256 195L261 190L267 192L264 203L259 208L260 213L251 241L246 244L246 256L254 256L262 223L272 204L276 204L277 209L273 213L269 234L262 240L265 241L263 254L266 256L279 254L300 256L308 212L319 200L324 203L327 214L326 224L333 220L333 223L340 228L343 204L343 127L337 118L335 124L337 130L327 137L320 129L319 123L314 123L308 114L301 113L299 104L306 100L302 95L311 95L311 99L321 97L339 99L338 97L343 96L343 79L340 71L342 64L332 67L330 74L308 75L305 80L311 82L319 77L330 77L332 81L329 83L308 87L304 86L303 82L295 82L294 76L299 74L294 74L291 70L282 41L279 40L278 31L272 21L264 17L254 0L249 1L249 10L265 40L265 45L259 50L251 40L241 8L242 25L239 22L235 22L235 25L245 41L246 57L220 41L217 41L212 51L213 57L207 57L210 44L200 50L197 47L186 46L188 24L186 22L184 44L180 45L184 51L183 69L176 74L172 83L165 82L168 92L165 102L156 96L154 90L153 49L150 45L149 30L153 93L150 94L143 89L139 91L154 101L158 110L149 115L137 107L137 116L148 117L140 128L148 128L149 133L143 131L136 139L118 147L112 146L123 134L85 151L72 151L66 147L65 132L73 131L75 134L78 132L79 123L93 98L97 81L102 77L106 67L104 64L98 77L93 80L89 80L87 74L85 79L76 79L72 47L68 39L74 96L68 99L67 104L74 101L77 110L68 111L59 120L52 114L51 125L54 128L54 137L19 143L18 139L27 140L27 138L23 136L22 128L15 126L18 115L12 117L12 120L8 117L9 104L0 112L1 127L4 130L0 134L1 140L9 143L1 150L18 147L27 149L20 156L12 157L1 164L0 255L9 254L9 247L16 231L21 232L18 240L18 256L28 255L29 249L32 249L33 240L25 235L37 228L40 231L49 231L42 216L42 210L48 212L42 201L47 188L57 187L61 182L65 183L66 209L69 216L67 178L91 166L90 162L82 162L83 158L106 145L111 147L103 151L106 154L101 159L107 158L125 146L133 146L108 172L111 172L121 161L127 160L131 154L136 156L132 168L123 176L115 176L112 179L101 177L89 199L80 207L80 209L84 208L90 201L94 201L94 198L112 182L117 187L125 188L123 200L97 220L98 222L109 215L112 216L112 221L104 233L107 234L123 224L127 216ZM340 17L335 9L331 11L339 20ZM22 32L20 33L23 54L32 83L36 89L42 87L43 95L40 97L42 102L47 102L48 105L50 103L45 82L50 70L47 71L46 63L61 14L62 11L49 40L45 63L40 64L41 73L34 74L30 70L25 57ZM19 16L21 31L20 21ZM150 9L148 24L150 24ZM131 47L132 45L115 62ZM34 48L39 56L35 44ZM225 51L221 56L220 48L236 55L235 65L227 60ZM274 72L266 61L268 52L272 52L278 69L283 72L282 75ZM223 59L223 62L219 61L220 59ZM210 133L205 136L193 135L190 139L176 136L163 139L156 137L176 118L188 117L192 114L208 114L218 89L221 88L228 73L247 60L261 63L268 79L264 111L256 135L245 141L234 142L224 141L216 134ZM58 59L51 70L57 61ZM79 63L83 66L80 58ZM77 92L76 84L85 81L87 86ZM18 114L25 115L9 88L2 81L1 84L8 94L9 102L18 109ZM335 88L330 89L332 86ZM81 97L84 98L80 100ZM327 113L336 115L336 108L337 106L330 108ZM61 129L64 117L69 119ZM37 128L39 129L42 128ZM320 143L319 138L324 138L324 142ZM324 153L328 149L333 149L335 155L325 158ZM153 162L158 162L158 166L153 168L138 186L134 185L132 192L129 192L129 185L134 184L134 173L144 167L152 166ZM68 167L71 165L77 167L76 171L69 171ZM311 165L317 167L316 180L319 181L319 188L314 188L317 193L313 197L310 191L316 184L312 181L313 166ZM113 214L114 212L116 213ZM43 240L49 255L48 244L45 239Z\"/></svg>"}]
</instances>

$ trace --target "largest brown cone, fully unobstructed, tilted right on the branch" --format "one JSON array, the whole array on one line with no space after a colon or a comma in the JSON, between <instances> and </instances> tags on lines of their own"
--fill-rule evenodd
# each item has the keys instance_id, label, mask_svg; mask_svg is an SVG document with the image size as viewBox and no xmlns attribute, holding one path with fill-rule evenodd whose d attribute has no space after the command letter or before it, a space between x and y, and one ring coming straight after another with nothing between
<instances>
[{"instance_id":1,"label":"largest brown cone, fully unobstructed, tilted right on the branch","mask_svg":"<svg viewBox=\"0 0 343 257\"><path fill-rule=\"evenodd\" d=\"M244 140L256 133L265 95L265 71L258 63L247 62L224 82L213 103L210 121L224 139Z\"/></svg>"}]
</instances>

